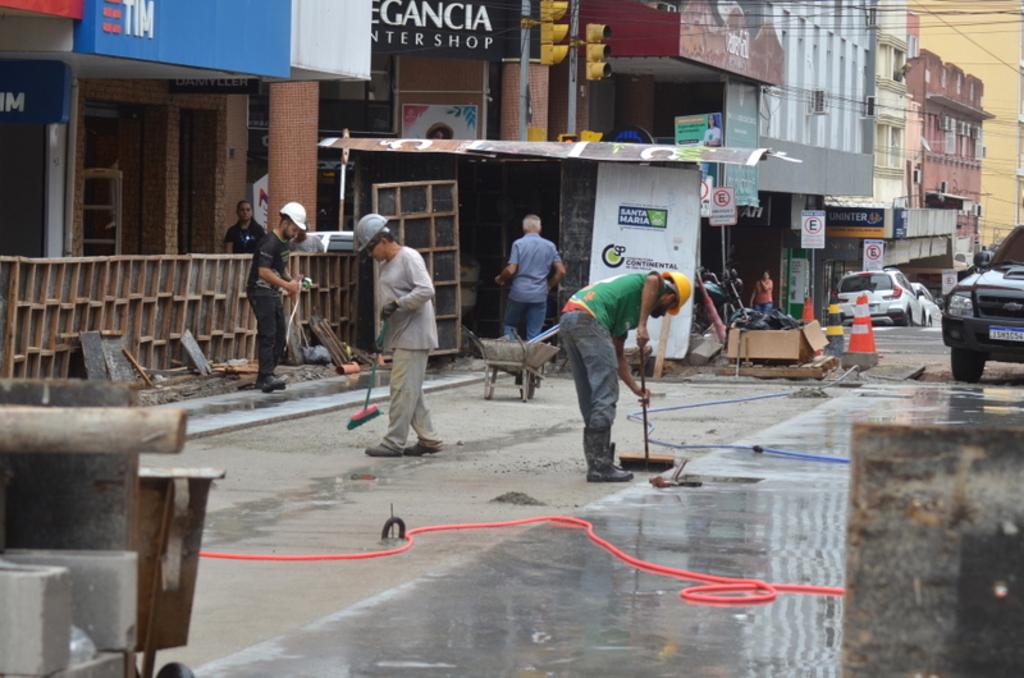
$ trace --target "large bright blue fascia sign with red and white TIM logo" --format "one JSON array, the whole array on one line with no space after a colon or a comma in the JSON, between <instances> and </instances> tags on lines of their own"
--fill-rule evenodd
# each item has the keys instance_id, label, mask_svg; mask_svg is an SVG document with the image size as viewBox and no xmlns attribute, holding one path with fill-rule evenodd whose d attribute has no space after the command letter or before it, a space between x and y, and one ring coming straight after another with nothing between
<instances>
[{"instance_id":1,"label":"large bright blue fascia sign with red and white TIM logo","mask_svg":"<svg viewBox=\"0 0 1024 678\"><path fill-rule=\"evenodd\" d=\"M85 0L75 52L287 78L291 31L291 0Z\"/></svg>"}]
</instances>

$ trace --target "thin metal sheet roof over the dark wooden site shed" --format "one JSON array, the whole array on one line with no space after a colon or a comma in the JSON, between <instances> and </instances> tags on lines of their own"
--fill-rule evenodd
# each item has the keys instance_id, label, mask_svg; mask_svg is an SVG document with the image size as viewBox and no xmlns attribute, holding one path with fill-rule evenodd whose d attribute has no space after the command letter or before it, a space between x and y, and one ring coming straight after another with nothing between
<instances>
[{"instance_id":1,"label":"thin metal sheet roof over the dark wooden site shed","mask_svg":"<svg viewBox=\"0 0 1024 678\"><path fill-rule=\"evenodd\" d=\"M609 141L495 141L490 139L326 138L325 149L379 153L450 153L478 157L590 160L616 163L724 163L757 165L767 158L802 162L771 149L677 146L664 143L612 143Z\"/></svg>"}]
</instances>

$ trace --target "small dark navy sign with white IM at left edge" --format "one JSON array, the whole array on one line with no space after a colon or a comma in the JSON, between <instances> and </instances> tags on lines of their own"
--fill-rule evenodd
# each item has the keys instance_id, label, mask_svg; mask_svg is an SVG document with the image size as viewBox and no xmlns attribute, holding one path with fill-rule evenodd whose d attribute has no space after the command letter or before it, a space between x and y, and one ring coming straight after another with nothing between
<instances>
[{"instance_id":1,"label":"small dark navy sign with white IM at left edge","mask_svg":"<svg viewBox=\"0 0 1024 678\"><path fill-rule=\"evenodd\" d=\"M0 123L62 125L71 69L60 61L0 61Z\"/></svg>"}]
</instances>

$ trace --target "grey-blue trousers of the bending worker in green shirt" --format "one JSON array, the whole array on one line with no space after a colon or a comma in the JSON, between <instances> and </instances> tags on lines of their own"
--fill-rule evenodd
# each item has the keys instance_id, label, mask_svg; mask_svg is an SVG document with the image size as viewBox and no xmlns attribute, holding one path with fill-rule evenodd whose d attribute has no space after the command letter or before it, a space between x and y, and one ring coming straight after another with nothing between
<instances>
[{"instance_id":1,"label":"grey-blue trousers of the bending worker in green shirt","mask_svg":"<svg viewBox=\"0 0 1024 678\"><path fill-rule=\"evenodd\" d=\"M559 342L569 357L580 413L588 428L610 429L618 401L618 358L611 334L585 310L559 319Z\"/></svg>"}]
</instances>

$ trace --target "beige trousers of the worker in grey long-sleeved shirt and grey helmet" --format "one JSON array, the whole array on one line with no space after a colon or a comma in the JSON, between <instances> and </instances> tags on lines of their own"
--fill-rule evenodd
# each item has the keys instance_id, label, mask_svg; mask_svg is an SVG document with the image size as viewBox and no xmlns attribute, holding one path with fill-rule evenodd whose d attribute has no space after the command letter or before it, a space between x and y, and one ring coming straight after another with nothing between
<instances>
[{"instance_id":1,"label":"beige trousers of the worker in grey long-sleeved shirt and grey helmet","mask_svg":"<svg viewBox=\"0 0 1024 678\"><path fill-rule=\"evenodd\" d=\"M384 446L402 450L413 427L420 442L439 448L441 437L434 430L430 409L423 397L423 379L427 374L430 351L395 348L391 355L391 405Z\"/></svg>"}]
</instances>

